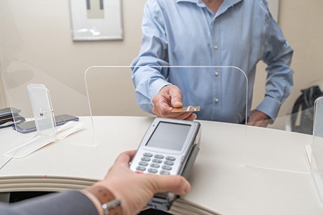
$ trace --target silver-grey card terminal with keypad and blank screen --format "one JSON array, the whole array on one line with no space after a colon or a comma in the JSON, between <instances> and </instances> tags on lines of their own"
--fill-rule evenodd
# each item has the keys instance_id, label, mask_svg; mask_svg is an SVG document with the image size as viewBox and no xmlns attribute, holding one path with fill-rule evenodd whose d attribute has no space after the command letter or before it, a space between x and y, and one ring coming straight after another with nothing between
<instances>
[{"instance_id":1,"label":"silver-grey card terminal with keypad and blank screen","mask_svg":"<svg viewBox=\"0 0 323 215\"><path fill-rule=\"evenodd\" d=\"M156 118L139 144L130 169L139 174L180 174L186 179L200 150L200 123ZM168 210L174 193L157 193L149 201L153 209Z\"/></svg>"}]
</instances>

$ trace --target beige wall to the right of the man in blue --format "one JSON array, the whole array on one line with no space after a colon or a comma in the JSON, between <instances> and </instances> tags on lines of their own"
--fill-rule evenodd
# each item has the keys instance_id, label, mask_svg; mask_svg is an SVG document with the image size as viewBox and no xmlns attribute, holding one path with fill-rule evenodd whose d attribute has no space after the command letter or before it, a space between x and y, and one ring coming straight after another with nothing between
<instances>
[{"instance_id":1,"label":"beige wall to the right of the man in blue","mask_svg":"<svg viewBox=\"0 0 323 215\"><path fill-rule=\"evenodd\" d=\"M294 69L294 88L291 95L282 104L279 116L270 127L284 129L285 116L291 111L300 90L312 84L319 84L323 91L323 1L280 0L279 24L294 56L291 67ZM264 81L262 63L257 67L253 105L258 104L264 95Z\"/></svg>"}]
</instances>

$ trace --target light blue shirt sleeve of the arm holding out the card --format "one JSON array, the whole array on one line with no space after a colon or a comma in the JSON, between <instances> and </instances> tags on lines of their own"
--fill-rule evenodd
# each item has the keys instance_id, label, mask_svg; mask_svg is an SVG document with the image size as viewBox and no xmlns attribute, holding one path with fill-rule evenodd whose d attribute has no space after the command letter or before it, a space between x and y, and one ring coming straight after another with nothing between
<instances>
[{"instance_id":1,"label":"light blue shirt sleeve of the arm holding out the card","mask_svg":"<svg viewBox=\"0 0 323 215\"><path fill-rule=\"evenodd\" d=\"M148 1L142 22L142 46L139 56L132 61L132 81L135 96L142 110L152 113L151 100L167 82L167 36L163 14L156 1Z\"/></svg>"}]
</instances>

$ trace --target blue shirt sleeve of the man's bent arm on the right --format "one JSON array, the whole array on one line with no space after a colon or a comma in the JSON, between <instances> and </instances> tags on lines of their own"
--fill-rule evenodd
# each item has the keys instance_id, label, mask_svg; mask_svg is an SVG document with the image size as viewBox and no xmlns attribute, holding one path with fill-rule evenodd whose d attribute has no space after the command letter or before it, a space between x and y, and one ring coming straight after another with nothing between
<instances>
[{"instance_id":1,"label":"blue shirt sleeve of the man's bent arm on the right","mask_svg":"<svg viewBox=\"0 0 323 215\"><path fill-rule=\"evenodd\" d=\"M280 27L270 13L265 47L266 55L263 62L268 65L266 68L266 94L256 109L275 120L280 106L293 88L294 71L290 67L293 50L284 39Z\"/></svg>"}]
</instances>

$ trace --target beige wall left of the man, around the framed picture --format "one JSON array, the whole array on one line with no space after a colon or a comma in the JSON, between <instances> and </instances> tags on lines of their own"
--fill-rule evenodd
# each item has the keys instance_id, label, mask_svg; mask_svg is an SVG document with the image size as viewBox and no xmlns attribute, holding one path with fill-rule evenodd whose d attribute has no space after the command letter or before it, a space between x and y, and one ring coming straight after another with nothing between
<instances>
[{"instance_id":1,"label":"beige wall left of the man, around the framed picture","mask_svg":"<svg viewBox=\"0 0 323 215\"><path fill-rule=\"evenodd\" d=\"M93 65L130 65L139 52L144 3L122 1L123 40L74 42L69 1L0 1L0 59L10 105L32 116L26 86L42 83L50 90L55 113L88 115L85 70ZM130 76L115 84L133 88ZM102 92L98 96L114 104ZM133 90L127 97L135 104L132 113L142 114Z\"/></svg>"}]
</instances>

